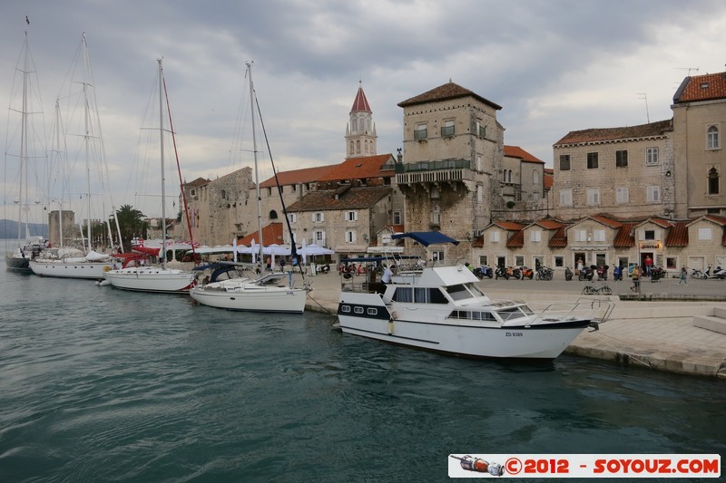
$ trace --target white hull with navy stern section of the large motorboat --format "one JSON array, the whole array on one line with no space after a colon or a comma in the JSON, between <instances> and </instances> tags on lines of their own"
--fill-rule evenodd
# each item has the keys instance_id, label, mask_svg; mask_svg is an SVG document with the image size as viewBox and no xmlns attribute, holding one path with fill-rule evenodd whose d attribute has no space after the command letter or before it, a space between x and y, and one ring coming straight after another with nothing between
<instances>
[{"instance_id":1,"label":"white hull with navy stern section of the large motorboat","mask_svg":"<svg viewBox=\"0 0 726 483\"><path fill-rule=\"evenodd\" d=\"M466 357L554 359L590 324L494 325L473 320L422 321L417 310L384 304L378 295L346 294L338 305L343 333Z\"/></svg>"}]
</instances>

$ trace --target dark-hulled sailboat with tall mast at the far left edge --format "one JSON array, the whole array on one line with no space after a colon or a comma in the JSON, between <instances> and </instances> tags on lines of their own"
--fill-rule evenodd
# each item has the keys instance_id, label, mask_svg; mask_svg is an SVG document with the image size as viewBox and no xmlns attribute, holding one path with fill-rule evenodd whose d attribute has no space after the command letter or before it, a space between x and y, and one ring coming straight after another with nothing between
<instances>
[{"instance_id":1,"label":"dark-hulled sailboat with tall mast at the far left edge","mask_svg":"<svg viewBox=\"0 0 726 483\"><path fill-rule=\"evenodd\" d=\"M22 63L22 65L21 65ZM32 104L31 92L34 90L31 85L32 73L35 72L32 56L30 53L30 46L28 44L28 33L25 31L25 42L23 43L23 49L18 60L18 65L15 67L16 72L22 72L22 105L19 107L11 106L10 111L19 112L21 115L20 124L20 146L19 146L19 164L18 164L18 179L17 188L18 196L14 199L15 205L17 206L17 245L7 253L5 253L5 268L7 270L30 272L30 260L35 256L38 256L43 250L44 237L31 237L30 236L30 192L28 188L29 178L29 163L32 157L31 150L33 150L34 144L31 140L34 139L34 130L30 126L30 117L32 114L37 113L34 111L39 106ZM15 90L14 90L15 91ZM10 133L8 133L10 137ZM8 139L8 144L10 140ZM5 156L7 149L5 150ZM8 180L8 186L10 180Z\"/></svg>"}]
</instances>

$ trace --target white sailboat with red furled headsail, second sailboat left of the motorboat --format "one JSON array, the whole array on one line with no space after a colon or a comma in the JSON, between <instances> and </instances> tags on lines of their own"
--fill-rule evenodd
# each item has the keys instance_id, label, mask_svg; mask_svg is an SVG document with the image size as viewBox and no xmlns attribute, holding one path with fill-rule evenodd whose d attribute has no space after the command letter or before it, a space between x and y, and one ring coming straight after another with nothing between
<instances>
[{"instance_id":1,"label":"white sailboat with red furled headsail, second sailboat left of the motorboat","mask_svg":"<svg viewBox=\"0 0 726 483\"><path fill-rule=\"evenodd\" d=\"M159 256L161 266L127 266L109 270L104 274L105 279L116 288L135 290L139 292L158 293L186 293L195 284L196 275L177 268L166 266L166 203L164 188L164 116L163 101L165 96L165 83L163 77L162 59L159 63L159 130L161 133L161 159L162 159L162 246ZM168 101L168 100L167 100ZM170 116L171 122L171 116ZM173 136L173 130L172 130ZM186 208L186 207L185 207ZM191 230L190 230L191 233Z\"/></svg>"}]
</instances>

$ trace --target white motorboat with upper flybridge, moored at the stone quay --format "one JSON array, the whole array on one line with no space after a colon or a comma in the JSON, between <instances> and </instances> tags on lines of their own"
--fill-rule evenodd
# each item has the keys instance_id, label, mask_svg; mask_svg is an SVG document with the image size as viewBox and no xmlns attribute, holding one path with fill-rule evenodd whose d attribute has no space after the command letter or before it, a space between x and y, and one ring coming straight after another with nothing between
<instances>
[{"instance_id":1,"label":"white motorboat with upper flybridge, moored at the stone quay","mask_svg":"<svg viewBox=\"0 0 726 483\"><path fill-rule=\"evenodd\" d=\"M490 300L478 281L459 265L427 266L378 292L351 284L340 293L338 323L343 333L439 353L554 359L613 310L609 301L590 298L535 313L524 302Z\"/></svg>"}]
</instances>

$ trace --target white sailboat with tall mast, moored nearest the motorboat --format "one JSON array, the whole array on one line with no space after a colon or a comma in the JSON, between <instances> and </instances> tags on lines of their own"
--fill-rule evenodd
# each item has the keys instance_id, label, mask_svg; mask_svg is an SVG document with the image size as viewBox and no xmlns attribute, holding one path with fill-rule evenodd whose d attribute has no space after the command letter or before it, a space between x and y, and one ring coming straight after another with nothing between
<instances>
[{"instance_id":1,"label":"white sailboat with tall mast, moored nearest the motorboat","mask_svg":"<svg viewBox=\"0 0 726 483\"><path fill-rule=\"evenodd\" d=\"M260 237L260 257L262 259L262 208L260 201L260 176L257 160L257 140L255 140L255 93L252 82L252 64L247 63L250 82L250 105L252 116L252 151L255 163L255 185L257 189L258 236ZM281 199L281 198L280 198ZM283 203L284 211L284 203ZM287 218L287 217L286 217ZM289 230L289 225L288 225ZM289 230L291 235L291 230ZM291 256L295 253L295 240L290 237ZM305 311L309 286L295 287L292 274L273 272L251 278L239 277L229 280L211 281L197 285L189 291L196 302L212 307L250 312L282 312L300 314Z\"/></svg>"}]
</instances>

